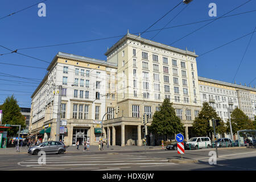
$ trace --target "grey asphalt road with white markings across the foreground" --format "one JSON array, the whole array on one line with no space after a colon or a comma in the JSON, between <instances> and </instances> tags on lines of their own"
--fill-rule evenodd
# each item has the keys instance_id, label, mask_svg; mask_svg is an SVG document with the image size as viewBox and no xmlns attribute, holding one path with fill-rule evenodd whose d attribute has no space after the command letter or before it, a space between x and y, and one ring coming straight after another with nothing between
<instances>
[{"instance_id":1,"label":"grey asphalt road with white markings across the foreground","mask_svg":"<svg viewBox=\"0 0 256 182\"><path fill-rule=\"evenodd\" d=\"M228 148L227 148L228 149ZM197 159L199 163L174 164L168 159L178 159L177 151L115 151L80 152L76 154L46 155L46 164L40 165L40 156L19 154L0 155L0 171L175 171L175 170L232 170L256 171L256 150L239 148L218 150L217 164L209 164L209 152L213 149L185 151L184 159ZM42 160L40 160L42 162Z\"/></svg>"}]
</instances>

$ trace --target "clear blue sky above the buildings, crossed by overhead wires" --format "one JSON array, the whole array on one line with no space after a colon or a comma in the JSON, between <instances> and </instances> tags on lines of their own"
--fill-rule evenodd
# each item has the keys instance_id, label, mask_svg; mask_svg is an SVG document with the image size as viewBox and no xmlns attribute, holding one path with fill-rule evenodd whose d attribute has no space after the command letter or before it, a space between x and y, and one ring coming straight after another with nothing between
<instances>
[{"instance_id":1,"label":"clear blue sky above the buildings, crossed by overhead wires","mask_svg":"<svg viewBox=\"0 0 256 182\"><path fill-rule=\"evenodd\" d=\"M8 49L0 47L0 104L7 96L14 94L20 107L30 107L31 95L47 73L46 69L40 69L48 67L49 63L44 61L51 62L59 51L106 60L104 53L107 48L112 47L123 35L127 34L128 29L131 34L144 32L181 2L180 0L47 0L44 2L45 17L38 16L40 8L37 5L23 10L42 1L0 1L0 46L11 50L18 49L18 53L43 60L32 59L15 52L10 53ZM149 31L163 28L171 19L173 20L166 27L173 28L164 29L155 37L158 31L144 32L141 36L146 39L154 37L152 40L155 42L170 44L173 47L181 49L187 47L189 51L195 50L196 55L199 55L197 72L200 77L225 82L236 80L237 84L241 82L242 85L247 86L252 81L251 86L254 86L256 85L256 35L247 34L253 32L256 26L256 11L253 11L256 9L256 1L247 1L249 0L193 0L188 5L181 3L154 24ZM228 13L245 2L247 2L245 5ZM209 7L210 3L216 4L216 17L209 16L209 11L212 9ZM2 18L16 11L19 12ZM247 11L252 12L245 13ZM240 15L217 19L207 26L205 24L209 21L179 26L201 20L213 20L224 14ZM200 30L193 32L198 28ZM191 32L193 34L188 35ZM247 36L232 42L244 35ZM119 37L65 46L23 49L113 36ZM180 38L183 39L179 40ZM232 43L215 49L229 42ZM204 54L212 49L215 50ZM9 54L1 56L3 53ZM238 69L240 63L241 66Z\"/></svg>"}]
</instances>

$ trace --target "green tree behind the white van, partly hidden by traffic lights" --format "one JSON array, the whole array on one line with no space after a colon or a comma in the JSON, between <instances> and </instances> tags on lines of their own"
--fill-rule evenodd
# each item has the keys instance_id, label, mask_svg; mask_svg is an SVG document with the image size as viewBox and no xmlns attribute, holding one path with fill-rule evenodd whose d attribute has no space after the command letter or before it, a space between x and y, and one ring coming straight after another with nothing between
<instances>
[{"instance_id":1,"label":"green tree behind the white van, partly hidden by traffic lights","mask_svg":"<svg viewBox=\"0 0 256 182\"><path fill-rule=\"evenodd\" d=\"M218 117L216 110L214 110L213 107L208 104L208 102L203 103L203 107L198 117L195 118L195 121L192 124L193 131L199 137L205 137L208 134L210 134L209 137L212 137L211 134L214 132L214 130L209 123L212 118L220 120L220 125L216 127L216 132L220 134L225 133L226 131L225 123L221 120L220 117Z\"/></svg>"}]
</instances>

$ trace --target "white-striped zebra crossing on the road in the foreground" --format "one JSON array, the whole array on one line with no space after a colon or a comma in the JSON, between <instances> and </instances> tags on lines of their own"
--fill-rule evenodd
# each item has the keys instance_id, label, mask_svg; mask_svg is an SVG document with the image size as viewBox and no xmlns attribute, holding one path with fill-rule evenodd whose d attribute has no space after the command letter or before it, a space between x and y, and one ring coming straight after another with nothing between
<instances>
[{"instance_id":1,"label":"white-striped zebra crossing on the road in the foreground","mask_svg":"<svg viewBox=\"0 0 256 182\"><path fill-rule=\"evenodd\" d=\"M112 170L148 170L150 167L164 167L177 165L168 163L166 158L148 158L143 155L130 154L96 154L96 155L46 155L44 164L39 164L40 156L32 156L33 159L18 162L20 167L57 169L57 170L88 170L88 171L112 171Z\"/></svg>"}]
</instances>

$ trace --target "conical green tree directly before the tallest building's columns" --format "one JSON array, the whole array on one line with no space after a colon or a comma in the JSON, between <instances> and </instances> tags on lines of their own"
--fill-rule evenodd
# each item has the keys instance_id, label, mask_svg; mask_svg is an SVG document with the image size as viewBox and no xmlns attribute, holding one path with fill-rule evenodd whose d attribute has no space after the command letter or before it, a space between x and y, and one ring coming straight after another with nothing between
<instances>
[{"instance_id":1,"label":"conical green tree directly before the tallest building's columns","mask_svg":"<svg viewBox=\"0 0 256 182\"><path fill-rule=\"evenodd\" d=\"M184 130L183 123L176 116L175 109L168 98L164 99L160 111L155 111L148 130L158 135L167 135L167 138L168 135L181 133Z\"/></svg>"}]
</instances>

